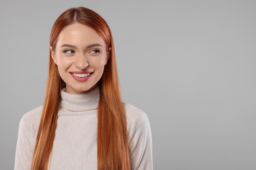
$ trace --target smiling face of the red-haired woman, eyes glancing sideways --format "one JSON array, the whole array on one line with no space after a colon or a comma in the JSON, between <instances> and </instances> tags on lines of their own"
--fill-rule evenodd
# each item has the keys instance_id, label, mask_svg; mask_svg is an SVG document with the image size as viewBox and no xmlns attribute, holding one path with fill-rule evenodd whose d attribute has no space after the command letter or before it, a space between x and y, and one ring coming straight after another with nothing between
<instances>
[{"instance_id":1,"label":"smiling face of the red-haired woman, eyes glancing sideways","mask_svg":"<svg viewBox=\"0 0 256 170\"><path fill-rule=\"evenodd\" d=\"M96 87L108 60L103 39L87 25L65 27L51 54L67 93L85 93Z\"/></svg>"}]
</instances>

